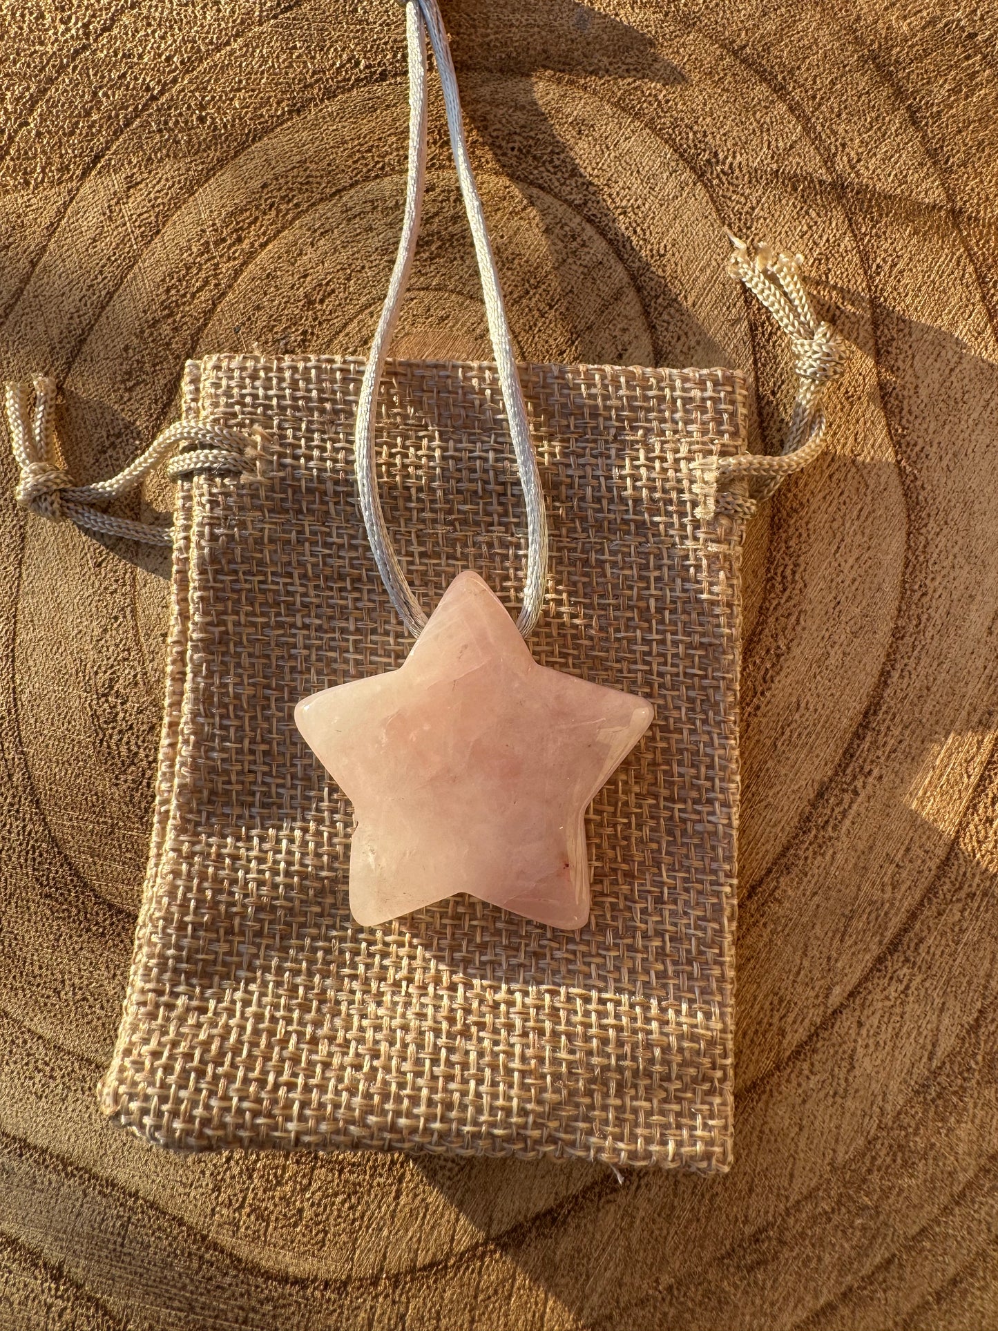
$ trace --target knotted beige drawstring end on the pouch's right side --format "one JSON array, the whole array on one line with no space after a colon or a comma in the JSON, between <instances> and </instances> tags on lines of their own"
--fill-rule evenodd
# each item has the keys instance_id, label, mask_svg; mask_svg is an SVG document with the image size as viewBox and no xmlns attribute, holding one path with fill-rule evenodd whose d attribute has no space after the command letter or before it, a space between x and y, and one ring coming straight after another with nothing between
<instances>
[{"instance_id":1,"label":"knotted beige drawstring end on the pouch's right side","mask_svg":"<svg viewBox=\"0 0 998 1331\"><path fill-rule=\"evenodd\" d=\"M797 375L797 399L790 414L784 451L780 457L741 453L719 458L716 511L750 518L760 499L768 499L778 486L806 467L825 446L825 386L840 378L846 362L846 347L836 330L818 322L810 309L808 293L800 278L804 260L800 254L774 254L768 245L756 245L749 253L745 241L731 237L735 246L728 261L732 276L765 305L793 349ZM731 480L754 482L749 496L725 491Z\"/></svg>"}]
</instances>

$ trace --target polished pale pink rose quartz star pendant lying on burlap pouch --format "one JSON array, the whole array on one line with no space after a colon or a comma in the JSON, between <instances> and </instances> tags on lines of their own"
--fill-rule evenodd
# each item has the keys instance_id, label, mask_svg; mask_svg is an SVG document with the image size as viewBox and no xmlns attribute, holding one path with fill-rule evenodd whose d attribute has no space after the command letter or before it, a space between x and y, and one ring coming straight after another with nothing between
<instances>
[{"instance_id":1,"label":"polished pale pink rose quartz star pendant lying on burlap pouch","mask_svg":"<svg viewBox=\"0 0 998 1331\"><path fill-rule=\"evenodd\" d=\"M399 669L313 693L294 719L354 804L359 924L468 892L578 929L589 917L585 809L652 705L539 666L464 572Z\"/></svg>"}]
</instances>

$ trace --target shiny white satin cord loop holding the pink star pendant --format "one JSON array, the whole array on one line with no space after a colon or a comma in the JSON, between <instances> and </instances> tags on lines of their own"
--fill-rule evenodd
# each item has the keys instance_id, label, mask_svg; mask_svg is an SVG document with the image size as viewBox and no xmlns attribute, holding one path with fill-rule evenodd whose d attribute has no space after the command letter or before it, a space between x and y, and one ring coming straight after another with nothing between
<instances>
[{"instance_id":1,"label":"shiny white satin cord loop holding the pink star pendant","mask_svg":"<svg viewBox=\"0 0 998 1331\"><path fill-rule=\"evenodd\" d=\"M391 334L398 321L402 297L406 290L409 274L413 268L416 238L419 234L419 216L423 202L423 186L426 180L426 33L428 31L430 43L436 57L436 69L440 76L443 101L447 112L447 129L450 132L454 165L458 170L458 182L464 198L471 236L475 242L475 257L482 278L482 291L484 295L486 317L488 319L488 333L492 341L499 387L502 390L503 405L512 439L516 469L523 486L523 498L527 507L527 570L523 587L523 608L518 619L518 627L527 638L538 622L544 603L544 586L547 582L547 511L544 507L544 492L540 486L538 473L538 459L527 426L527 410L523 402L516 361L512 351L510 326L506 319L499 274L492 257L492 248L488 241L482 201L475 185L475 177L468 161L467 145L464 142L464 124L460 112L460 97L458 95L458 80L454 73L447 33L436 7L436 0L407 0L406 4L406 37L409 43L409 173L406 181L406 209L402 221L402 236L399 238L395 266L389 282L389 291L385 297L385 306L378 321L378 327L371 342L370 355L361 382L361 393L357 403L357 431L354 438L354 466L357 469L357 488L361 499L367 538L371 543L371 552L381 572L385 587L391 598L391 603L402 616L406 628L418 636L426 624L426 612L409 586L402 571L398 554L391 543L385 526L385 515L378 495L378 471L374 454L374 423L378 406L378 387L385 367Z\"/></svg>"}]
</instances>

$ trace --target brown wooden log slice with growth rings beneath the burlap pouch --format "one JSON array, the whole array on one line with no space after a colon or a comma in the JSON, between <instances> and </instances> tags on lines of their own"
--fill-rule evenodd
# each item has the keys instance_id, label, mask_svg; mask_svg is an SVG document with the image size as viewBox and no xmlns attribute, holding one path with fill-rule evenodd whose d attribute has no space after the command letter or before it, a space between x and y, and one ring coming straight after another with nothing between
<instances>
[{"instance_id":1,"label":"brown wooden log slice with growth rings beneath the burlap pouch","mask_svg":"<svg viewBox=\"0 0 998 1331\"><path fill-rule=\"evenodd\" d=\"M0 1326L998 1326L998 16L448 0L520 354L789 359L725 229L854 350L745 559L736 1165L181 1158L100 1119L150 825L166 556L0 484ZM363 353L405 166L391 0L0 4L0 370L79 480L185 357ZM487 355L431 109L397 350ZM162 511L162 479L126 515Z\"/></svg>"}]
</instances>

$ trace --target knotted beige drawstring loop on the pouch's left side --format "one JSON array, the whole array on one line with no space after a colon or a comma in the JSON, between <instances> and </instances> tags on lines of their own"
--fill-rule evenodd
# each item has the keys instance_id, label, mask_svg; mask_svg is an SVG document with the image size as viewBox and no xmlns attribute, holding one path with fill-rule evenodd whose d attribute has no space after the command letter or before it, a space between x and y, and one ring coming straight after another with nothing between
<instances>
[{"instance_id":1,"label":"knotted beige drawstring loop on the pouch's left side","mask_svg":"<svg viewBox=\"0 0 998 1331\"><path fill-rule=\"evenodd\" d=\"M35 410L29 410L29 397L35 390ZM93 484L77 486L51 459L55 454L53 409L56 381L36 374L32 383L8 383L4 387L4 407L11 446L20 471L17 503L32 508L51 522L69 519L77 527L97 531L105 536L125 536L149 546L173 544L169 527L153 527L130 518L116 518L102 512L97 504L128 494L140 480L177 449L180 453L166 465L170 480L180 480L197 473L242 474L248 469L246 451L253 439L238 430L226 430L196 421L177 421L168 426L149 445L141 457L117 475Z\"/></svg>"}]
</instances>

